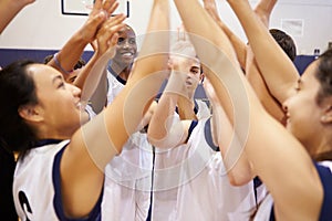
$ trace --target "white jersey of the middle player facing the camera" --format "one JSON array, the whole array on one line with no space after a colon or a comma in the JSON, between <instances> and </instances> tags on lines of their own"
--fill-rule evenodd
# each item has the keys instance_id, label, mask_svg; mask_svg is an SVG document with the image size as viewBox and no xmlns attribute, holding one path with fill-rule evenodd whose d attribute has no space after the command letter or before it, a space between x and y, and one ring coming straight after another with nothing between
<instances>
[{"instance_id":1,"label":"white jersey of the middle player facing the camera","mask_svg":"<svg viewBox=\"0 0 332 221\"><path fill-rule=\"evenodd\" d=\"M253 183L229 183L221 155L205 136L207 119L186 145L158 149L155 162L153 220L248 220L256 208Z\"/></svg>"}]
</instances>

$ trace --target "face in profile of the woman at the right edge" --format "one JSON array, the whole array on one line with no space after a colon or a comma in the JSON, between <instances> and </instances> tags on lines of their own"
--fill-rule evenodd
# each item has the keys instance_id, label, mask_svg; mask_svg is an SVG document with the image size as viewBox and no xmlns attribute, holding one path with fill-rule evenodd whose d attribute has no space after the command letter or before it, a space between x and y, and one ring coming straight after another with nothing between
<instances>
[{"instance_id":1,"label":"face in profile of the woman at the right edge","mask_svg":"<svg viewBox=\"0 0 332 221\"><path fill-rule=\"evenodd\" d=\"M323 107L320 107L315 99L320 88L320 83L314 76L317 66L318 61L305 70L298 81L294 95L283 104L287 112L287 129L308 148L309 152L311 146L319 145L318 131L322 130Z\"/></svg>"}]
</instances>

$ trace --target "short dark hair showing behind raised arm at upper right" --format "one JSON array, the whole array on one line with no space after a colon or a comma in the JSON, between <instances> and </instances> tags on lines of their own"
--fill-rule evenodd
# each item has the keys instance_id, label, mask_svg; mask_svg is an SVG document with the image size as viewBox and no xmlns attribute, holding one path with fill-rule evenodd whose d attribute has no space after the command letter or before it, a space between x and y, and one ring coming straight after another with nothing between
<instances>
[{"instance_id":1,"label":"short dark hair showing behind raised arm at upper right","mask_svg":"<svg viewBox=\"0 0 332 221\"><path fill-rule=\"evenodd\" d=\"M297 46L293 39L279 29L270 29L269 31L290 60L294 61L297 57Z\"/></svg>"}]
</instances>

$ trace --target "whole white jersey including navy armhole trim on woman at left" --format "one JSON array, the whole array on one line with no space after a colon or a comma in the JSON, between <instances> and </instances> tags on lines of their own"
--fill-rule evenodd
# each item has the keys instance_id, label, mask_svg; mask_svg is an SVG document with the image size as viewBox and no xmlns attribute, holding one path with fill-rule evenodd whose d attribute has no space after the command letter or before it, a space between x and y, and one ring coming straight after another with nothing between
<instances>
[{"instance_id":1,"label":"whole white jersey including navy armhole trim on woman at left","mask_svg":"<svg viewBox=\"0 0 332 221\"><path fill-rule=\"evenodd\" d=\"M66 220L62 204L60 160L69 141L42 140L38 144L41 146L35 146L23 160L18 161L13 192L21 219ZM49 202L50 199L53 199L52 202ZM102 194L86 220L101 219L101 199Z\"/></svg>"}]
</instances>

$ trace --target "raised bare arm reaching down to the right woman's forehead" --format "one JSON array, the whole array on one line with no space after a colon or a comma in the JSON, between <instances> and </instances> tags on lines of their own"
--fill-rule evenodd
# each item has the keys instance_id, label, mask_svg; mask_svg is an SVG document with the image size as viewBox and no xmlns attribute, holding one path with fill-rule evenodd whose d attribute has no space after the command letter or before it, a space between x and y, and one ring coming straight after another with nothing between
<instances>
[{"instance_id":1,"label":"raised bare arm reaching down to the right woman's forehead","mask_svg":"<svg viewBox=\"0 0 332 221\"><path fill-rule=\"evenodd\" d=\"M272 95L283 103L293 93L299 74L264 23L259 20L248 0L228 0L249 39L259 70ZM274 0L267 1L267 3ZM273 52L273 53L266 53Z\"/></svg>"}]
</instances>

